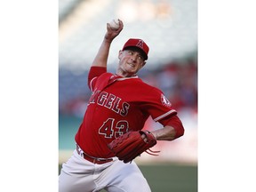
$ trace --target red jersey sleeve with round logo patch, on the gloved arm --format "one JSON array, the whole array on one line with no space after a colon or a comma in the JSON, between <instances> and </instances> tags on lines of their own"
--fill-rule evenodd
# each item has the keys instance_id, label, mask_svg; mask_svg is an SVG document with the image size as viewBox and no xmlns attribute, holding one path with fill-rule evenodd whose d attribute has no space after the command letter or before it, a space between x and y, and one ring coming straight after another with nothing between
<instances>
[{"instance_id":1,"label":"red jersey sleeve with round logo patch, on the gloved arm","mask_svg":"<svg viewBox=\"0 0 256 192\"><path fill-rule=\"evenodd\" d=\"M140 107L158 122L167 116L176 115L177 111L172 108L172 103L164 96L164 93L155 87L148 92L144 92L144 97Z\"/></svg>"}]
</instances>

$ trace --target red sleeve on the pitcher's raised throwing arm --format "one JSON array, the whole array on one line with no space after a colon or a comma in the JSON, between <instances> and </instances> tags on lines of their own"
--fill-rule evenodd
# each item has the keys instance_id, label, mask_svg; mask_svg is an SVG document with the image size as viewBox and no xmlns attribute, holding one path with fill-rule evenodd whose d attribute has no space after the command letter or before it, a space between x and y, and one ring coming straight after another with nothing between
<instances>
[{"instance_id":1,"label":"red sleeve on the pitcher's raised throwing arm","mask_svg":"<svg viewBox=\"0 0 256 192\"><path fill-rule=\"evenodd\" d=\"M90 68L90 71L88 74L88 86L92 92L93 92L94 86L96 84L97 77L106 72L107 72L107 68L96 67L96 66L92 66Z\"/></svg>"}]
</instances>

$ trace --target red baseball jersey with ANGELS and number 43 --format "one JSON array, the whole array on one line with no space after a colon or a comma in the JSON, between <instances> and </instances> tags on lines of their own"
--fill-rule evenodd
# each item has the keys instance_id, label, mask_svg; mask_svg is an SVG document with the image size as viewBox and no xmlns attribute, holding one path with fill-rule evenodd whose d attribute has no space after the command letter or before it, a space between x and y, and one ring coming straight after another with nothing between
<instances>
[{"instance_id":1,"label":"red baseball jersey with ANGELS and number 43","mask_svg":"<svg viewBox=\"0 0 256 192\"><path fill-rule=\"evenodd\" d=\"M90 156L113 156L108 143L125 132L141 130L148 116L157 122L177 114L163 92L138 76L116 76L107 68L92 67L88 85L92 96L75 140Z\"/></svg>"}]
</instances>

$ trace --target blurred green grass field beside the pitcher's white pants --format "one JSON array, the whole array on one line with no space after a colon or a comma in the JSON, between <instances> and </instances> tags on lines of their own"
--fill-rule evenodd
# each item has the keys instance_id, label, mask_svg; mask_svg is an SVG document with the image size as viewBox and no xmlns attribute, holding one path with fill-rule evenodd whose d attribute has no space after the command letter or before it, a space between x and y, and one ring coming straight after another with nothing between
<instances>
[{"instance_id":1,"label":"blurred green grass field beside the pitcher's white pants","mask_svg":"<svg viewBox=\"0 0 256 192\"><path fill-rule=\"evenodd\" d=\"M139 167L152 192L197 192L196 165L157 164ZM59 172L60 168L61 165Z\"/></svg>"}]
</instances>

